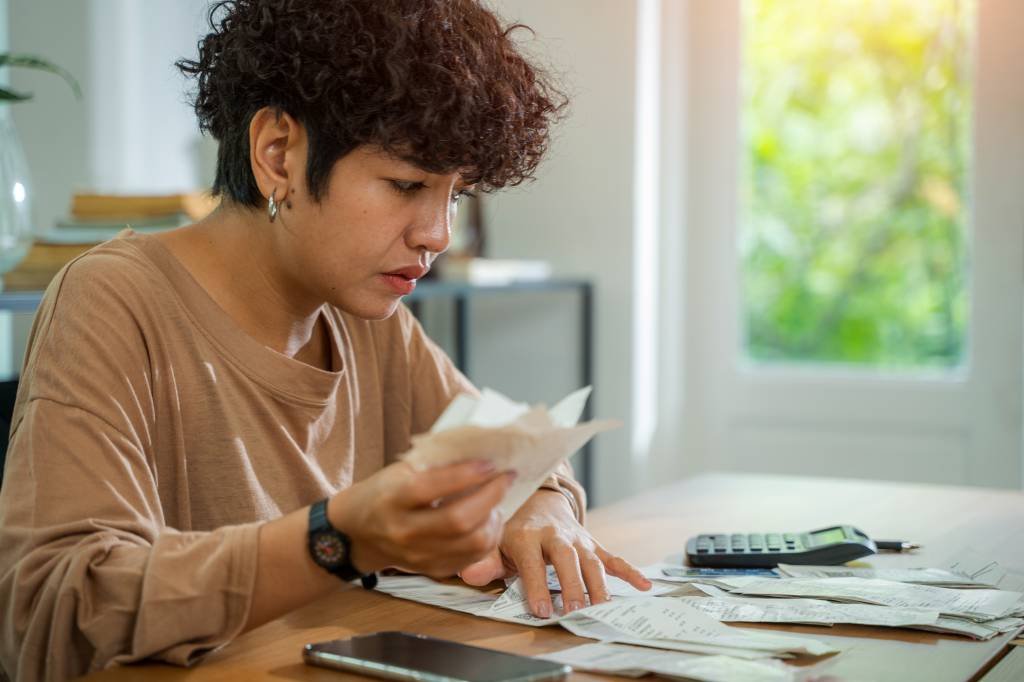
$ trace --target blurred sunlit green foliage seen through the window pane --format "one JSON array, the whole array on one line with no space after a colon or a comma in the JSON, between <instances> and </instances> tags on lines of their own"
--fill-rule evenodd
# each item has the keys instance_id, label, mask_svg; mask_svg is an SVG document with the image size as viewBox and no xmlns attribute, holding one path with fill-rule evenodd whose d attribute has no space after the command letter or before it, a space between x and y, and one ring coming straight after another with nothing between
<instances>
[{"instance_id":1,"label":"blurred sunlit green foliage seen through the window pane","mask_svg":"<svg viewBox=\"0 0 1024 682\"><path fill-rule=\"evenodd\" d=\"M970 0L744 1L752 358L962 363L974 18Z\"/></svg>"}]
</instances>

